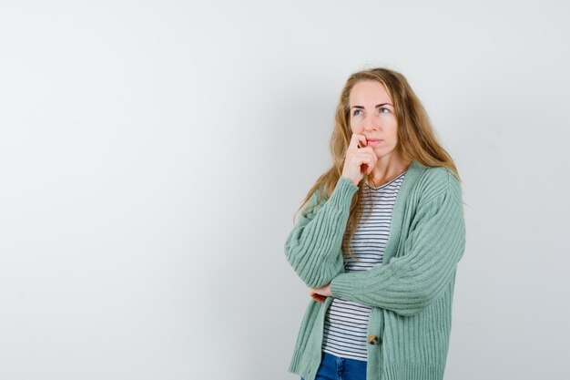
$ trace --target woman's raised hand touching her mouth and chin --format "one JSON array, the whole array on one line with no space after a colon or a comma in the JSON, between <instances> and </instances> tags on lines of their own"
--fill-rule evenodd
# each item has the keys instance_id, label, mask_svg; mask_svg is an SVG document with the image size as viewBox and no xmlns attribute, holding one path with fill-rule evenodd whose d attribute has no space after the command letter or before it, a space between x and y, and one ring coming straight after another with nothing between
<instances>
[{"instance_id":1,"label":"woman's raised hand touching her mouth and chin","mask_svg":"<svg viewBox=\"0 0 570 380\"><path fill-rule=\"evenodd\" d=\"M370 174L377 161L378 157L372 147L368 146L366 136L360 133L352 133L341 176L348 178L354 185L358 186L364 177L364 173Z\"/></svg>"}]
</instances>

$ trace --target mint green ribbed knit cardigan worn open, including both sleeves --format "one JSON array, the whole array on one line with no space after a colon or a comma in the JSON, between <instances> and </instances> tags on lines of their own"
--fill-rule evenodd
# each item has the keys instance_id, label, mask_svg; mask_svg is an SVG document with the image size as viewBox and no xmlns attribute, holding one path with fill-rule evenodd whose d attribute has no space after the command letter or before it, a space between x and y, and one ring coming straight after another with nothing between
<instances>
[{"instance_id":1,"label":"mint green ribbed knit cardigan worn open, including both sleeves","mask_svg":"<svg viewBox=\"0 0 570 380\"><path fill-rule=\"evenodd\" d=\"M310 197L285 242L285 255L309 287L331 282L332 297L372 306L368 380L441 380L452 326L453 285L465 249L460 182L444 167L412 161L396 196L383 264L344 272L341 243L358 190L341 177L331 197ZM325 313L310 299L290 372L314 380Z\"/></svg>"}]
</instances>

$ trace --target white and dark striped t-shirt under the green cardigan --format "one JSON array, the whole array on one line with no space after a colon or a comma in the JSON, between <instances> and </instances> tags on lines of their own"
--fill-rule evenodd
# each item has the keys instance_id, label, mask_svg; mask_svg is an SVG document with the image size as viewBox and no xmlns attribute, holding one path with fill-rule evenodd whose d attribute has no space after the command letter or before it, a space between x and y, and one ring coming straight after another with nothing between
<instances>
[{"instance_id":1,"label":"white and dark striped t-shirt under the green cardigan","mask_svg":"<svg viewBox=\"0 0 570 380\"><path fill-rule=\"evenodd\" d=\"M396 194L406 172L377 188L364 185L359 200L359 207L363 208L361 223L351 239L354 258L344 258L346 272L367 271L382 264ZM366 220L372 199L372 214ZM348 234L345 234L344 239L348 239ZM334 298L326 313L322 351L340 357L367 360L366 334L371 310L370 306L361 303Z\"/></svg>"}]
</instances>

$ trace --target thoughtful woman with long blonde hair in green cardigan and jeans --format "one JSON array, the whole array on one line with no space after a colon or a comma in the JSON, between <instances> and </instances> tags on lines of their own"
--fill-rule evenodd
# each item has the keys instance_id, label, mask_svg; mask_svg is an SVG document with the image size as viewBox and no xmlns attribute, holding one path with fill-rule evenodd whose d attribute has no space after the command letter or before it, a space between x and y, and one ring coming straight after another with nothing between
<instances>
[{"instance_id":1,"label":"thoughtful woman with long blonde hair in green cardigan and jeans","mask_svg":"<svg viewBox=\"0 0 570 380\"><path fill-rule=\"evenodd\" d=\"M443 379L465 248L453 159L405 77L385 68L347 80L331 153L285 242L312 298L290 372Z\"/></svg>"}]
</instances>

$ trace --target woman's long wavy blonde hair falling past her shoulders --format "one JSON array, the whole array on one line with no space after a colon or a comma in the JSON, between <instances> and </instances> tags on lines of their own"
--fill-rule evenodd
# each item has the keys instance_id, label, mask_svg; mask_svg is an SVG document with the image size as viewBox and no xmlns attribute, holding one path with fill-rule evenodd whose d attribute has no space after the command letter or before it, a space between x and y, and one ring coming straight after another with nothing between
<instances>
[{"instance_id":1,"label":"woman's long wavy blonde hair falling past her shoulders","mask_svg":"<svg viewBox=\"0 0 570 380\"><path fill-rule=\"evenodd\" d=\"M424 166L446 167L451 170L457 180L461 181L453 159L438 141L425 108L423 108L420 99L415 95L406 78L399 72L383 67L362 70L353 73L342 87L330 142L333 162L331 169L325 171L310 188L307 196L301 202L299 210L295 212L293 221L310 200L314 191L320 192L321 201L329 199L341 177L346 150L349 148L352 135L349 96L352 87L362 80L380 82L392 98L398 125L396 149L399 149L402 159L406 161L416 160ZM351 201L351 211L345 232L345 237L348 239L343 239L342 242L342 252L345 256L353 257L350 241L361 221L363 211L358 205L363 196L363 184L367 181L368 175L364 173L364 177L358 185L359 190ZM372 212L372 208L370 211ZM371 212L369 212L369 217Z\"/></svg>"}]
</instances>

